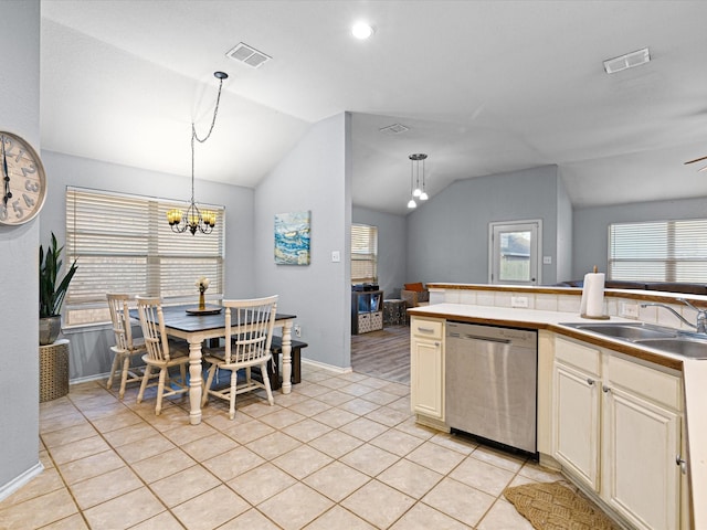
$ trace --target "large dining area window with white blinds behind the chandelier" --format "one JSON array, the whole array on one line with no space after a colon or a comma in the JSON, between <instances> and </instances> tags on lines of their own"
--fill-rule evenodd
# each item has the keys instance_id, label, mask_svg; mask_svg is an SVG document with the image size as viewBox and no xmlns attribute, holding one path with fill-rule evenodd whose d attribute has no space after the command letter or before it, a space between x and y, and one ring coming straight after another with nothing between
<instances>
[{"instance_id":1,"label":"large dining area window with white blinds behind the chandelier","mask_svg":"<svg viewBox=\"0 0 707 530\"><path fill-rule=\"evenodd\" d=\"M223 295L224 208L209 235L177 234L167 211L187 209L162 199L67 188L66 263L78 269L66 294L64 324L110 320L106 293L160 296L166 303L197 299L194 283L211 280L207 296Z\"/></svg>"}]
</instances>

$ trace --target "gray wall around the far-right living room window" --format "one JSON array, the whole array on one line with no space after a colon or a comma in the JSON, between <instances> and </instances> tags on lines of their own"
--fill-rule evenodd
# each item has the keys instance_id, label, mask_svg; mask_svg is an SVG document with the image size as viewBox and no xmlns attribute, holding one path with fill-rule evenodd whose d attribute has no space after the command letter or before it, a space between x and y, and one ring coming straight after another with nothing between
<instances>
[{"instance_id":1,"label":"gray wall around the far-right living room window","mask_svg":"<svg viewBox=\"0 0 707 530\"><path fill-rule=\"evenodd\" d=\"M682 201L640 202L615 206L576 209L572 279L582 278L585 273L592 271L594 265L601 272L606 271L610 223L704 219L706 215L707 198L705 197Z\"/></svg>"}]
</instances>

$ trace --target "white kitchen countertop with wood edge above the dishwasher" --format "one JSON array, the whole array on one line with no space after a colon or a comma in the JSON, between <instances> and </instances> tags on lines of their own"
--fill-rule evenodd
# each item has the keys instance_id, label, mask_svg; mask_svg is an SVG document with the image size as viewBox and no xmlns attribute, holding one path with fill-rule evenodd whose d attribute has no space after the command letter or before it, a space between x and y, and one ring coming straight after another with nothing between
<instances>
[{"instance_id":1,"label":"white kitchen countertop with wood edge above the dishwasher","mask_svg":"<svg viewBox=\"0 0 707 530\"><path fill-rule=\"evenodd\" d=\"M409 309L412 316L433 318L465 318L488 325L516 325L518 327L548 328L555 332L571 332L579 336L598 338L595 333L584 332L576 328L562 326L562 322L598 322L582 318L577 314L559 311L541 311L493 306L472 306L464 304L435 304ZM635 322L635 320L611 317L611 322ZM601 337L606 348L622 346L626 342L610 337ZM633 349L645 350L655 356L657 350L632 344ZM693 524L695 529L707 529L707 360L686 359L679 356L659 352L666 359L682 363L683 388L685 392L685 422L687 433L687 452L689 480L692 488Z\"/></svg>"}]
</instances>

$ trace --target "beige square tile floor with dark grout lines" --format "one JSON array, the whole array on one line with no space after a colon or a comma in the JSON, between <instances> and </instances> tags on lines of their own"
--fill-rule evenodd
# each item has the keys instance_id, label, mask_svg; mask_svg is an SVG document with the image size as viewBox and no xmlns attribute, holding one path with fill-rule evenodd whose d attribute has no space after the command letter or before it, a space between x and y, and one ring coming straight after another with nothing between
<instances>
[{"instance_id":1,"label":"beige square tile floor with dark grout lines","mask_svg":"<svg viewBox=\"0 0 707 530\"><path fill-rule=\"evenodd\" d=\"M45 470L0 502L0 529L527 529L502 496L559 475L414 423L410 388L303 364L275 406L136 404L104 382L41 404ZM151 396L150 396L151 398Z\"/></svg>"}]
</instances>

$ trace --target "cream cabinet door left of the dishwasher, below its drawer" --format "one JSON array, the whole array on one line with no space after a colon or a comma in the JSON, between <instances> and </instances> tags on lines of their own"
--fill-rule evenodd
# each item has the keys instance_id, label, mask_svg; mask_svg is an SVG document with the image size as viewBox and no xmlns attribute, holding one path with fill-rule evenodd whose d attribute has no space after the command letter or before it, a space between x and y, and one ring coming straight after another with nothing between
<instances>
[{"instance_id":1,"label":"cream cabinet door left of the dishwasher, below its drawer","mask_svg":"<svg viewBox=\"0 0 707 530\"><path fill-rule=\"evenodd\" d=\"M412 412L444 420L444 357L439 340L411 341L410 393Z\"/></svg>"}]
</instances>

